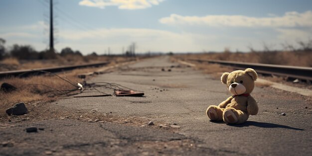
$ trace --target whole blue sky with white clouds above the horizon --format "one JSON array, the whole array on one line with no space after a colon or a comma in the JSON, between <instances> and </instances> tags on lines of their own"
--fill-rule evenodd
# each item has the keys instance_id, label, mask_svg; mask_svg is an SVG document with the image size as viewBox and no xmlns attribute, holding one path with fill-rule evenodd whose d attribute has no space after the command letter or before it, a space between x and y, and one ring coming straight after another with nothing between
<instances>
[{"instance_id":1,"label":"whole blue sky with white clouds above the horizon","mask_svg":"<svg viewBox=\"0 0 312 156\"><path fill-rule=\"evenodd\" d=\"M281 49L312 38L312 0L54 0L55 48L112 53ZM48 47L49 0L0 0L6 46Z\"/></svg>"}]
</instances>

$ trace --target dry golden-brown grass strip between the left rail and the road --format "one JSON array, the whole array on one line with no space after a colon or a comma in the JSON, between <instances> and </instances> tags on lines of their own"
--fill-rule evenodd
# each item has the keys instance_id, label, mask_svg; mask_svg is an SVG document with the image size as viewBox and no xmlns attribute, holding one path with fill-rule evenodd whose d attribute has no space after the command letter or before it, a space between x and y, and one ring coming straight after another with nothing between
<instances>
[{"instance_id":1,"label":"dry golden-brown grass strip between the left rail and the road","mask_svg":"<svg viewBox=\"0 0 312 156\"><path fill-rule=\"evenodd\" d=\"M114 63L108 65L112 66ZM82 73L93 72L99 70L99 68L82 68L68 71L66 73L59 73L58 75L62 78L66 78L77 84L82 80L77 77L77 75ZM40 76L32 76L28 78L5 78L0 80L0 84L3 82L9 83L17 88L16 91L10 93L4 93L0 91L0 112L2 113L4 109L9 108L18 102L35 102L35 101L54 101L58 97L55 97L55 94L59 95L57 90L70 90L75 89L76 87L70 83L58 78L57 76L51 74L45 74ZM44 85L44 86L43 86ZM47 87L49 86L49 87ZM50 88L53 87L54 89ZM50 92L50 91L55 92ZM75 93L75 92L74 92ZM4 110L5 112L5 110Z\"/></svg>"}]
</instances>

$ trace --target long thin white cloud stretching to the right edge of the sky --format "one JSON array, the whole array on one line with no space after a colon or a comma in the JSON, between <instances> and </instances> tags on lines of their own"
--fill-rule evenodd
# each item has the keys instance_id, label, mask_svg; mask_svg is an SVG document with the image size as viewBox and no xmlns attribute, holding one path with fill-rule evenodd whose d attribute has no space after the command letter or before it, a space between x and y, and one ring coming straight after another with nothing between
<instances>
[{"instance_id":1,"label":"long thin white cloud stretching to the right edge of the sky","mask_svg":"<svg viewBox=\"0 0 312 156\"><path fill-rule=\"evenodd\" d=\"M303 13L286 12L283 16L250 17L243 15L207 15L181 16L171 14L159 19L160 23L168 25L203 25L203 26L230 26L230 27L311 27L312 11Z\"/></svg>"}]
</instances>

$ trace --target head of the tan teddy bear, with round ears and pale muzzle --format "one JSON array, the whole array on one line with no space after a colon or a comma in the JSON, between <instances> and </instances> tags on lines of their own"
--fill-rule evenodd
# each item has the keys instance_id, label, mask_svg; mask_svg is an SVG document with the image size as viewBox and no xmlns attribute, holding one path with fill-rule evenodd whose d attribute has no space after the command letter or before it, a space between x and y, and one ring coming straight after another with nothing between
<instances>
[{"instance_id":1,"label":"head of the tan teddy bear, with round ears and pale muzzle","mask_svg":"<svg viewBox=\"0 0 312 156\"><path fill-rule=\"evenodd\" d=\"M221 82L233 95L250 94L255 88L258 75L254 69L236 70L231 73L223 73Z\"/></svg>"}]
</instances>

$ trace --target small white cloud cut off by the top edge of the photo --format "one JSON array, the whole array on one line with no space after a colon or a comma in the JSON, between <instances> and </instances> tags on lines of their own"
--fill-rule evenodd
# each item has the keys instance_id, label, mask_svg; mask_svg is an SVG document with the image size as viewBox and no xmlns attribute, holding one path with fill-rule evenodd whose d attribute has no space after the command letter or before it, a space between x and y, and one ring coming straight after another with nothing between
<instances>
[{"instance_id":1,"label":"small white cloud cut off by the top edge of the photo","mask_svg":"<svg viewBox=\"0 0 312 156\"><path fill-rule=\"evenodd\" d=\"M99 8L118 6L120 9L144 9L158 5L162 1L164 0L81 0L79 5Z\"/></svg>"}]
</instances>

